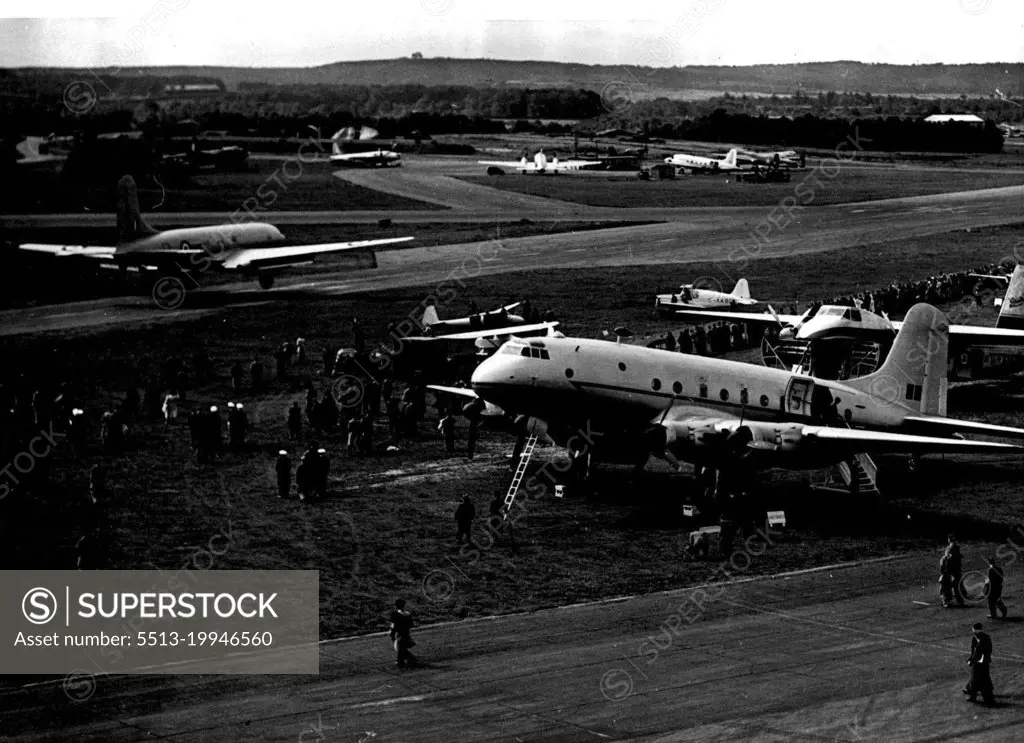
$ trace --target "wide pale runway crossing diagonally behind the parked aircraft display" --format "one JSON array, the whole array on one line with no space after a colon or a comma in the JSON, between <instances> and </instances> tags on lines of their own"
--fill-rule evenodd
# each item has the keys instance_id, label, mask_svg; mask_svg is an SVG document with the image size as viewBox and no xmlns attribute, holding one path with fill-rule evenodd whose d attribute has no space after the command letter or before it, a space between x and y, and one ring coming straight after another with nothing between
<instances>
[{"instance_id":1,"label":"wide pale runway crossing diagonally behind the parked aircraft display","mask_svg":"<svg viewBox=\"0 0 1024 743\"><path fill-rule=\"evenodd\" d=\"M314 277L286 274L269 292L255 289L253 282L238 282L203 293L212 297L230 295L233 303L260 303L294 299L294 287L301 287L311 296L341 296L401 287L436 287L442 281L452 287L457 286L455 279L511 271L694 262L715 262L721 273L717 277L728 282L738 278L749 261L757 258L861 245L878 245L882 251L890 241L1019 223L1024 219L1022 206L1024 186L797 209L792 216L763 207L693 209L685 210L690 215L687 219L659 224L385 251L378 254L375 270L325 271ZM647 220L667 210L600 211L628 213L631 220ZM294 216L322 221L322 217L305 213ZM755 236L757 230L761 237ZM1013 243L1008 241L1006 255L1011 255L1013 249ZM991 259L1002 257L993 255ZM655 285L656 275L652 273L651 286ZM0 312L0 336L97 329L111 323L174 322L217 311L223 310L167 311L147 298L104 299Z\"/></svg>"}]
</instances>

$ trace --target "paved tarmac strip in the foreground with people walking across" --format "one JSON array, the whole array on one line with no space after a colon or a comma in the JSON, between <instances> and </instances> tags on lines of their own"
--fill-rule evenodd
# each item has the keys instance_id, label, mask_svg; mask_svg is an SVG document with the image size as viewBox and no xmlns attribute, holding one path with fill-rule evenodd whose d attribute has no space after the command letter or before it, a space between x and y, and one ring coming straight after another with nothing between
<instances>
[{"instance_id":1,"label":"paved tarmac strip in the foreground with people walking across","mask_svg":"<svg viewBox=\"0 0 1024 743\"><path fill-rule=\"evenodd\" d=\"M729 563L710 562L720 579L701 587L420 628L418 669L395 669L386 636L374 635L322 643L315 679L98 674L94 686L73 680L69 695L60 682L9 690L0 693L3 734L374 743L1024 736L1024 623L1013 596L1007 620L989 621L981 603L943 610L937 552L743 578L758 555L785 549L784 536L755 535ZM993 549L966 545L966 567ZM1008 586L1020 584L1021 557L1008 565ZM458 601L464 578L452 572L447 600ZM965 576L972 591L978 575ZM414 609L426 600L411 598ZM382 622L386 611L382 601ZM993 708L961 693L979 620L994 646ZM238 662L241 670L259 661Z\"/></svg>"}]
</instances>

